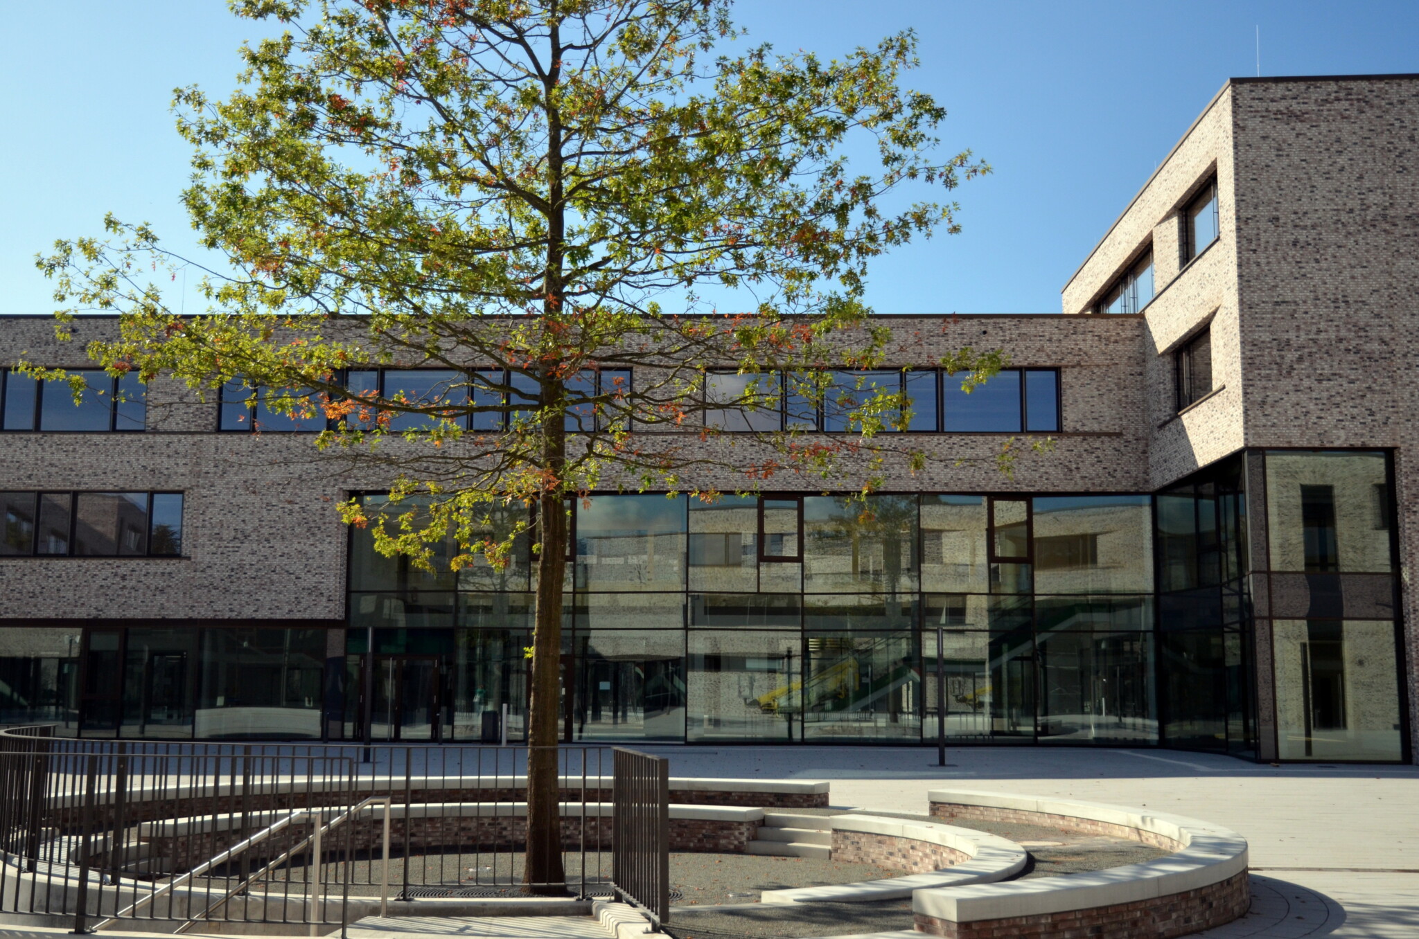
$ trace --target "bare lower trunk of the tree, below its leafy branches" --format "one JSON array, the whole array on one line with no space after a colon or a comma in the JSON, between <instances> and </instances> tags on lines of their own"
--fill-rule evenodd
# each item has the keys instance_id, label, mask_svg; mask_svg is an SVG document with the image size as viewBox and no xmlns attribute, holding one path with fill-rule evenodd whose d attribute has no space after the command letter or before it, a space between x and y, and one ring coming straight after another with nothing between
<instances>
[{"instance_id":1,"label":"bare lower trunk of the tree, below its leafy branches","mask_svg":"<svg viewBox=\"0 0 1419 939\"><path fill-rule=\"evenodd\" d=\"M531 892L559 895L562 868L558 725L562 667L562 577L566 569L566 505L556 494L538 504L536 626L532 633L532 701L528 709L528 834L522 879Z\"/></svg>"}]
</instances>

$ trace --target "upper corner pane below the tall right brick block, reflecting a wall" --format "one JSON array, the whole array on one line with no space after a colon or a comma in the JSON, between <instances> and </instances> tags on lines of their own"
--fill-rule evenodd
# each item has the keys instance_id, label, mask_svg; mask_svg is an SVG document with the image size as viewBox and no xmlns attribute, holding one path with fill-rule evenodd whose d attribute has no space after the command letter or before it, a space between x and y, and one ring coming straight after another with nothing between
<instances>
[{"instance_id":1,"label":"upper corner pane below the tall right brick block, reflecting a wall","mask_svg":"<svg viewBox=\"0 0 1419 939\"><path fill-rule=\"evenodd\" d=\"M1271 569L1392 570L1389 505L1381 452L1267 451Z\"/></svg>"}]
</instances>

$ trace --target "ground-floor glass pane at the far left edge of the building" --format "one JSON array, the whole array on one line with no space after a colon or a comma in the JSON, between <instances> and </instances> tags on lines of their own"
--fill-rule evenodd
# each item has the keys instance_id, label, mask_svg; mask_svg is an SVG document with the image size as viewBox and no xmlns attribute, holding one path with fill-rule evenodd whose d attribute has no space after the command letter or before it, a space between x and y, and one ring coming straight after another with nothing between
<instances>
[{"instance_id":1,"label":"ground-floor glass pane at the far left edge of the building","mask_svg":"<svg viewBox=\"0 0 1419 939\"><path fill-rule=\"evenodd\" d=\"M78 630L0 628L0 722L78 729Z\"/></svg>"}]
</instances>

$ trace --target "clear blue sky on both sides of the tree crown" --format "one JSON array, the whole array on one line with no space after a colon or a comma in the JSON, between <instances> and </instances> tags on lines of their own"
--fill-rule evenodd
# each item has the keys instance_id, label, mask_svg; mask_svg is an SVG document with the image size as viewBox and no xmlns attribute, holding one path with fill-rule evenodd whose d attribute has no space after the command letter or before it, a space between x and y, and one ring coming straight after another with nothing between
<instances>
[{"instance_id":1,"label":"clear blue sky on both sides of the tree crown","mask_svg":"<svg viewBox=\"0 0 1419 939\"><path fill-rule=\"evenodd\" d=\"M172 89L233 88L236 48L261 27L220 0L4 14L0 313L48 313L34 254L98 234L106 211L193 244ZM958 190L962 234L877 264L868 301L887 313L1059 312L1064 281L1196 113L1229 77L1256 74L1257 27L1263 75L1419 72L1412 0L751 0L736 17L748 41L823 55L914 27L922 67L910 84L951 112L944 146L993 165Z\"/></svg>"}]
</instances>

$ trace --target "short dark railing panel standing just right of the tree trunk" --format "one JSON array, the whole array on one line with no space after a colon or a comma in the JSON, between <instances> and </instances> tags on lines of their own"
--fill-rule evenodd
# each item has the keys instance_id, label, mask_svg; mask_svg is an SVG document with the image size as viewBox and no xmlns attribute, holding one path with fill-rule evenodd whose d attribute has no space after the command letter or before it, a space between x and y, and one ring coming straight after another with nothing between
<instances>
[{"instance_id":1,"label":"short dark railing panel standing just right of the tree trunk","mask_svg":"<svg viewBox=\"0 0 1419 939\"><path fill-rule=\"evenodd\" d=\"M616 748L612 884L657 926L670 919L670 760Z\"/></svg>"}]
</instances>

